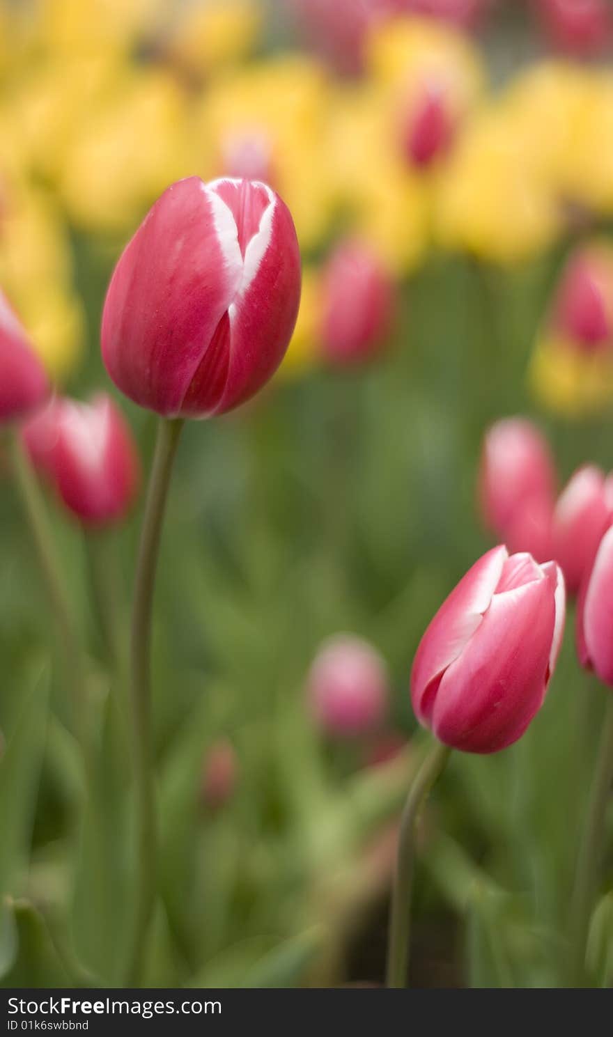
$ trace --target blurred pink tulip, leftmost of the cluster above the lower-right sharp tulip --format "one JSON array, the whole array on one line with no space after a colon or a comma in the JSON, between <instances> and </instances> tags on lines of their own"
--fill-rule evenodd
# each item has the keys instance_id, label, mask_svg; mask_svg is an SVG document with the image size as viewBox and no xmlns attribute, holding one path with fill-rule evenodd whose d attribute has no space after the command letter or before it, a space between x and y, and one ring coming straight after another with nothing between
<instances>
[{"instance_id":1,"label":"blurred pink tulip, leftmost of the cluster above the lower-right sharp tulip","mask_svg":"<svg viewBox=\"0 0 613 1037\"><path fill-rule=\"evenodd\" d=\"M551 557L555 469L547 441L524 418L497 421L485 433L479 499L485 526L509 550Z\"/></svg>"}]
</instances>

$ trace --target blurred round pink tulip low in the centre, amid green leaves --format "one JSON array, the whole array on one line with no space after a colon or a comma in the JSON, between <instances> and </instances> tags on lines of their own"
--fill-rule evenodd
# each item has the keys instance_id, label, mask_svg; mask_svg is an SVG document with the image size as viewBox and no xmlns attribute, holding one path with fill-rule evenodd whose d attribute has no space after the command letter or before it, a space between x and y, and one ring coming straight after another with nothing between
<instances>
[{"instance_id":1,"label":"blurred round pink tulip low in the centre, amid green leaves","mask_svg":"<svg viewBox=\"0 0 613 1037\"><path fill-rule=\"evenodd\" d=\"M307 681L310 710L327 734L351 738L378 727L387 711L386 666L367 642L350 635L322 646Z\"/></svg>"}]
</instances>

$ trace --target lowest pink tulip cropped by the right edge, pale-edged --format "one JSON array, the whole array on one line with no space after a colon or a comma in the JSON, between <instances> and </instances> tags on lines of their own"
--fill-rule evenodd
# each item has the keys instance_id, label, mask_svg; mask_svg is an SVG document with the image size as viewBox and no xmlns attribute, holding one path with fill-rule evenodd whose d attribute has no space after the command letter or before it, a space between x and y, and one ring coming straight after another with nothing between
<instances>
[{"instance_id":1,"label":"lowest pink tulip cropped by the right edge, pale-edged","mask_svg":"<svg viewBox=\"0 0 613 1037\"><path fill-rule=\"evenodd\" d=\"M582 666L613 688L613 527L605 533L577 608L577 646Z\"/></svg>"}]
</instances>

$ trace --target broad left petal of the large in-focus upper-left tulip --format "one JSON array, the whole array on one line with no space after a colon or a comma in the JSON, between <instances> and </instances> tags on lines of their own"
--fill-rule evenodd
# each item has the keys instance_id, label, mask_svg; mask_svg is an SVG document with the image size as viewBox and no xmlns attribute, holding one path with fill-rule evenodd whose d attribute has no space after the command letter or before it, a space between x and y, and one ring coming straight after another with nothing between
<instances>
[{"instance_id":1,"label":"broad left petal of the large in-focus upper-left tulip","mask_svg":"<svg viewBox=\"0 0 613 1037\"><path fill-rule=\"evenodd\" d=\"M243 277L231 211L197 176L173 184L121 255L102 325L109 374L175 416Z\"/></svg>"}]
</instances>

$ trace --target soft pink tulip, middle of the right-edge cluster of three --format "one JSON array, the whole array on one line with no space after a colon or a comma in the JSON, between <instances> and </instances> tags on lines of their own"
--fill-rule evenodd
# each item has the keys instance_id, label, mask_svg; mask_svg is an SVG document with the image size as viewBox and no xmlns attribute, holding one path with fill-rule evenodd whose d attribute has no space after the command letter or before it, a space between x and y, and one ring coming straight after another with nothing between
<instances>
[{"instance_id":1,"label":"soft pink tulip, middle of the right-edge cluster of three","mask_svg":"<svg viewBox=\"0 0 613 1037\"><path fill-rule=\"evenodd\" d=\"M580 468L556 504L553 544L569 593L579 590L613 520L613 481L593 465Z\"/></svg>"}]
</instances>

